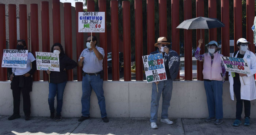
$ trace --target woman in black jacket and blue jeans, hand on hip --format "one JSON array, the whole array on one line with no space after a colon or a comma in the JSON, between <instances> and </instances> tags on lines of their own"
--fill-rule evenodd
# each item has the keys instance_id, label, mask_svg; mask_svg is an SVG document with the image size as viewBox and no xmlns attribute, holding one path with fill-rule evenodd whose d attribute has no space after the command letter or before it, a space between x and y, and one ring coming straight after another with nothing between
<instances>
[{"instance_id":1,"label":"woman in black jacket and blue jeans, hand on hip","mask_svg":"<svg viewBox=\"0 0 256 135\"><path fill-rule=\"evenodd\" d=\"M59 54L60 72L46 71L47 74L50 75L48 103L50 108L50 118L54 119L54 97L57 95L57 113L55 120L60 121L63 93L68 80L66 70L74 69L77 66L77 63L64 53L63 47L60 43L54 43L51 53Z\"/></svg>"}]
</instances>

